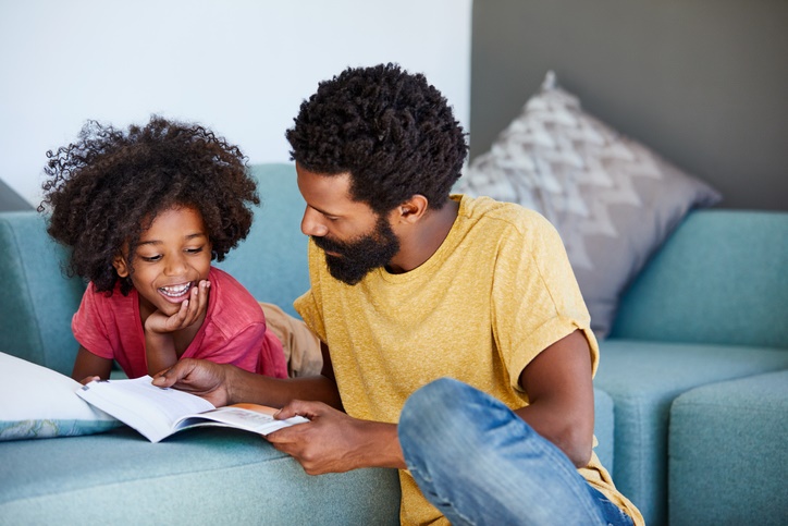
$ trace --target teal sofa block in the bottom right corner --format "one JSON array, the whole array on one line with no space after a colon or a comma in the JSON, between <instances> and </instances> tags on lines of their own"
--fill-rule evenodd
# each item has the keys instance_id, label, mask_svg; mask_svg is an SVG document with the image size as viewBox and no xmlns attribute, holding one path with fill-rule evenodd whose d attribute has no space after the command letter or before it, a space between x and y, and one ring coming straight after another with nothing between
<instances>
[{"instance_id":1,"label":"teal sofa block in the bottom right corner","mask_svg":"<svg viewBox=\"0 0 788 526\"><path fill-rule=\"evenodd\" d=\"M670 409L670 524L785 524L786 437L788 370L677 397Z\"/></svg>"}]
</instances>

